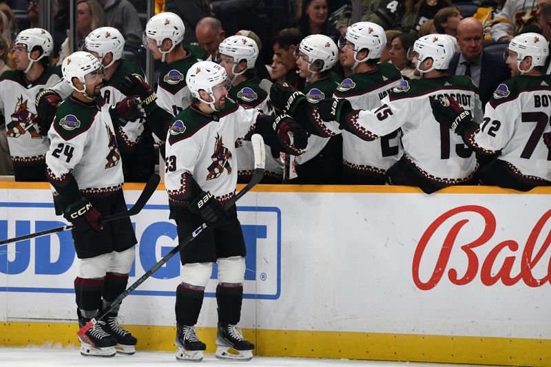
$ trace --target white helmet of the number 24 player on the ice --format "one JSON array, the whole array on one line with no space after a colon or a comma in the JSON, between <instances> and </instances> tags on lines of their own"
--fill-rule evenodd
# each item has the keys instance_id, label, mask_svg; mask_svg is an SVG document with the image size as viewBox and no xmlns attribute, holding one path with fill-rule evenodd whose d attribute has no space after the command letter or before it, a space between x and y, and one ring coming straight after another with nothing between
<instances>
[{"instance_id":1,"label":"white helmet of the number 24 player on the ice","mask_svg":"<svg viewBox=\"0 0 551 367\"><path fill-rule=\"evenodd\" d=\"M63 80L69 83L69 85L76 90L76 92L81 92L85 96L87 96L86 76L96 70L99 70L99 76L105 76L105 68L101 65L96 56L85 51L73 52L69 56L65 57L65 59L63 59L63 63L61 64ZM83 90L76 88L72 82L73 78L78 78L79 81L81 81Z\"/></svg>"}]
</instances>

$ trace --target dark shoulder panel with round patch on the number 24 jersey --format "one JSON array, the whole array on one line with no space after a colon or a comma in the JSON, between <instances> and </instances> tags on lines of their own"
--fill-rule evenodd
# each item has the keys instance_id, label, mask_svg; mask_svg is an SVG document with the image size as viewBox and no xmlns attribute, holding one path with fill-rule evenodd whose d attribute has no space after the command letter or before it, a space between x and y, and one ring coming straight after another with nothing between
<instances>
[{"instance_id":1,"label":"dark shoulder panel with round patch on the number 24 jersey","mask_svg":"<svg viewBox=\"0 0 551 367\"><path fill-rule=\"evenodd\" d=\"M63 139L71 140L90 129L98 112L96 107L81 105L67 97L57 108L54 129Z\"/></svg>"}]
</instances>

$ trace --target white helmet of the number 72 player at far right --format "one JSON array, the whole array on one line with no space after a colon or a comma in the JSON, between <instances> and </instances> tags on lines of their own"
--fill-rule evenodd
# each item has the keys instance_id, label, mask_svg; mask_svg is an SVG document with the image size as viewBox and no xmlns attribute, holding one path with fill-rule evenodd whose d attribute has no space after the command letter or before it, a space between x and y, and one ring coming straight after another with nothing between
<instances>
[{"instance_id":1,"label":"white helmet of the number 72 player at far right","mask_svg":"<svg viewBox=\"0 0 551 367\"><path fill-rule=\"evenodd\" d=\"M517 68L519 72L525 74L535 66L545 65L545 60L549 56L549 44L544 36L537 33L523 33L515 36L509 43L510 51L517 52ZM532 65L529 70L521 70L521 62L526 56L532 57Z\"/></svg>"}]
</instances>

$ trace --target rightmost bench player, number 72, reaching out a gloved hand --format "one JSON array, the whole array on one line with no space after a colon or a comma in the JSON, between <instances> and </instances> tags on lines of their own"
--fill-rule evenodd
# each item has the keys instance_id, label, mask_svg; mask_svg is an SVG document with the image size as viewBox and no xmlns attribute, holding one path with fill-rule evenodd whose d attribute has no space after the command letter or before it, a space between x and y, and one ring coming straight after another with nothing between
<instances>
[{"instance_id":1,"label":"rightmost bench player, number 72, reaching out a gloved hand","mask_svg":"<svg viewBox=\"0 0 551 367\"><path fill-rule=\"evenodd\" d=\"M523 33L509 43L512 78L500 84L486 105L481 125L472 122L455 98L433 101L435 118L482 154L498 154L479 174L483 185L528 191L551 185L551 76L543 66L549 45L541 34Z\"/></svg>"}]
</instances>

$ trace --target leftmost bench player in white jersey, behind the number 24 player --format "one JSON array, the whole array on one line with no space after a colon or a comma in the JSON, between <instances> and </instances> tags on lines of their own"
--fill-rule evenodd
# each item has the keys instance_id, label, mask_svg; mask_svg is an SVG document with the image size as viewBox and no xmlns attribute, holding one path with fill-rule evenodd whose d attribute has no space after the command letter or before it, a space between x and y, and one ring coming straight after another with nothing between
<instances>
[{"instance_id":1,"label":"leftmost bench player in white jersey, behind the number 24 player","mask_svg":"<svg viewBox=\"0 0 551 367\"><path fill-rule=\"evenodd\" d=\"M5 117L8 145L16 181L46 181L48 138L36 123L34 97L61 79L49 66L54 41L48 31L30 28L17 34L12 44L14 71L0 76L0 112Z\"/></svg>"}]
</instances>

